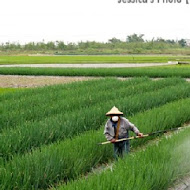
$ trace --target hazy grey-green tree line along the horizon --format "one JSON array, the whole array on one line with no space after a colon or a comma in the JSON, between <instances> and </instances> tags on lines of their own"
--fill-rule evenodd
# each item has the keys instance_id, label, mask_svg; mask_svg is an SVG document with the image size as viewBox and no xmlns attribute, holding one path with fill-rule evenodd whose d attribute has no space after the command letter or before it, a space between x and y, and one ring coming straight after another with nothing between
<instances>
[{"instance_id":1,"label":"hazy grey-green tree line along the horizon","mask_svg":"<svg viewBox=\"0 0 190 190\"><path fill-rule=\"evenodd\" d=\"M105 51L119 53L122 50L127 50L128 53L141 53L144 50L164 50L164 49L181 49L186 48L186 40L169 40L163 38L157 38L152 40L144 40L143 34L132 34L126 37L126 40L120 40L118 38L111 38L107 42L86 41L78 43L64 43L64 41L50 41L50 42L29 42L24 45L20 43L1 43L0 51L47 51L53 50L59 51L75 51L75 52L93 52L93 51ZM118 51L118 52L117 52Z\"/></svg>"}]
</instances>

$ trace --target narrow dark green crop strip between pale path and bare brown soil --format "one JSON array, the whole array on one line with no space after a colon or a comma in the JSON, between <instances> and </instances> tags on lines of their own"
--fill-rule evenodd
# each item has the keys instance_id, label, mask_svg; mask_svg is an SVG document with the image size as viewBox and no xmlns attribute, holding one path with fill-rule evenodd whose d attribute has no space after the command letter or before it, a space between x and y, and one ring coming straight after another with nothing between
<instances>
[{"instance_id":1,"label":"narrow dark green crop strip between pale path and bare brown soil","mask_svg":"<svg viewBox=\"0 0 190 190\"><path fill-rule=\"evenodd\" d=\"M6 75L116 76L116 77L190 77L190 66L146 68L0 68Z\"/></svg>"}]
</instances>

